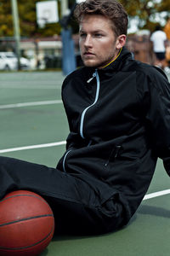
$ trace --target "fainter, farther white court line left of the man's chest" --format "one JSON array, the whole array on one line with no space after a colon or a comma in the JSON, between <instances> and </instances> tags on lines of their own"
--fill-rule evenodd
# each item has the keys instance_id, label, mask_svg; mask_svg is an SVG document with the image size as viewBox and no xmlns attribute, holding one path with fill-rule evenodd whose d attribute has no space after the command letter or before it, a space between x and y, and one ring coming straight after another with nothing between
<instances>
[{"instance_id":1,"label":"fainter, farther white court line left of the man's chest","mask_svg":"<svg viewBox=\"0 0 170 256\"><path fill-rule=\"evenodd\" d=\"M43 101L43 102L23 102L23 103L14 103L14 104L8 104L8 105L0 105L0 109L33 107L33 106L52 105L52 104L60 104L60 103L62 103L61 100Z\"/></svg>"}]
</instances>

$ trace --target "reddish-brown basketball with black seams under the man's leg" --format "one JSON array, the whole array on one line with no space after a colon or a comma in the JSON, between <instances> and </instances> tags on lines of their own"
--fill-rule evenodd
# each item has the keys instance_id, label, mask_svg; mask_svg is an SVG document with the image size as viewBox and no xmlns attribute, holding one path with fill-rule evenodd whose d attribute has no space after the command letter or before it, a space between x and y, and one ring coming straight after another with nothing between
<instances>
[{"instance_id":1,"label":"reddish-brown basketball with black seams under the man's leg","mask_svg":"<svg viewBox=\"0 0 170 256\"><path fill-rule=\"evenodd\" d=\"M53 235L54 215L40 195L18 190L0 201L0 255L38 255Z\"/></svg>"}]
</instances>

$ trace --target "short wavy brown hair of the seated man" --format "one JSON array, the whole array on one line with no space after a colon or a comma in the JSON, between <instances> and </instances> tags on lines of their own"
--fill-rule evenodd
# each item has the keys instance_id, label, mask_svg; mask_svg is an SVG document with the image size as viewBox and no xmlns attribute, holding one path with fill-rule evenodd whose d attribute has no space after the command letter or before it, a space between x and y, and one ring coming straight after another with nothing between
<instances>
[{"instance_id":1,"label":"short wavy brown hair of the seated man","mask_svg":"<svg viewBox=\"0 0 170 256\"><path fill-rule=\"evenodd\" d=\"M104 15L111 20L116 36L127 35L127 12L116 0L86 0L77 4L74 15L79 23L82 15Z\"/></svg>"}]
</instances>

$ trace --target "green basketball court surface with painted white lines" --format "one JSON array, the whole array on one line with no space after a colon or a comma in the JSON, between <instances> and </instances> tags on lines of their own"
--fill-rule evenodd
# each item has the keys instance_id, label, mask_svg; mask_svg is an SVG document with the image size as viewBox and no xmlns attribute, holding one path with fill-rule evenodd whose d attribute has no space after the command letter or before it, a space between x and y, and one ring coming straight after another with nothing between
<instances>
[{"instance_id":1,"label":"green basketball court surface with painted white lines","mask_svg":"<svg viewBox=\"0 0 170 256\"><path fill-rule=\"evenodd\" d=\"M63 79L59 72L0 73L1 155L56 166L68 134L60 101ZM161 160L147 195L122 230L54 236L41 256L169 256L170 178Z\"/></svg>"}]
</instances>

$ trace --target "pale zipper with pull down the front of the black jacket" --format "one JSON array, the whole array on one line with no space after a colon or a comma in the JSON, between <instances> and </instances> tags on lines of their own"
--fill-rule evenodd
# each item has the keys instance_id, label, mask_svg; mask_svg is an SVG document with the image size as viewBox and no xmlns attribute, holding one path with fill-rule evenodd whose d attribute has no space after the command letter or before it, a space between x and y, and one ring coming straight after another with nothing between
<instances>
[{"instance_id":1,"label":"pale zipper with pull down the front of the black jacket","mask_svg":"<svg viewBox=\"0 0 170 256\"><path fill-rule=\"evenodd\" d=\"M94 103L93 103L92 105L88 106L88 108L91 108L92 106L94 106L94 104L95 104L95 103L98 101L98 99L99 99L99 86L100 86L100 84L99 84L99 74L98 74L98 72L97 72L97 69L95 70L95 73L93 74L93 78L92 78L92 79L94 79L94 77L96 77L96 80L97 80L96 96L95 96ZM88 83L89 83L92 79L88 79ZM83 112L82 112L82 117L81 117L81 123L80 123L80 135L81 135L81 137L82 137L83 139L85 138L85 137L83 136L83 131L82 131L82 130L83 130L83 122L84 122L84 117L85 117L85 114L86 114L88 108L85 108L85 109L83 110Z\"/></svg>"}]
</instances>

